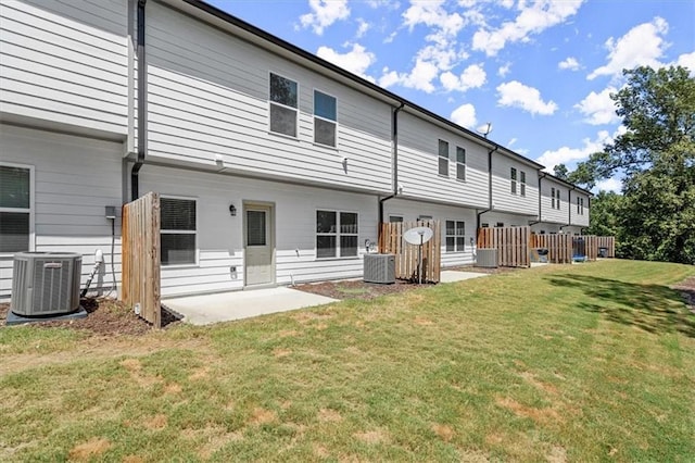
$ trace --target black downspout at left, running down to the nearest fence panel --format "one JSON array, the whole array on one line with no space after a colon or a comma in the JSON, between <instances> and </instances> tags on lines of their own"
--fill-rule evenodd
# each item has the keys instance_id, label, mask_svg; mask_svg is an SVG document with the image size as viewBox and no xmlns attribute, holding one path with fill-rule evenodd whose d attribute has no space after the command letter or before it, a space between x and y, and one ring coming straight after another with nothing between
<instances>
[{"instance_id":1,"label":"black downspout at left, running down to the nearest fence panel","mask_svg":"<svg viewBox=\"0 0 695 463\"><path fill-rule=\"evenodd\" d=\"M148 0L138 0L138 158L130 171L130 197L135 201L140 197L138 174L144 163L148 150L147 130L147 61L144 55L144 4Z\"/></svg>"}]
</instances>

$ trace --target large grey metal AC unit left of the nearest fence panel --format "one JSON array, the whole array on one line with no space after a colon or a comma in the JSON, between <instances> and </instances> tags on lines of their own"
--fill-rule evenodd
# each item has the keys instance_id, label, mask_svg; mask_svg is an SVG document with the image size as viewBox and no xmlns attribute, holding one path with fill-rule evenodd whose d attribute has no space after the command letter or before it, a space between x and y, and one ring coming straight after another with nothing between
<instances>
[{"instance_id":1,"label":"large grey metal AC unit left of the nearest fence panel","mask_svg":"<svg viewBox=\"0 0 695 463\"><path fill-rule=\"evenodd\" d=\"M10 310L21 316L79 310L83 256L74 252L17 252Z\"/></svg>"}]
</instances>

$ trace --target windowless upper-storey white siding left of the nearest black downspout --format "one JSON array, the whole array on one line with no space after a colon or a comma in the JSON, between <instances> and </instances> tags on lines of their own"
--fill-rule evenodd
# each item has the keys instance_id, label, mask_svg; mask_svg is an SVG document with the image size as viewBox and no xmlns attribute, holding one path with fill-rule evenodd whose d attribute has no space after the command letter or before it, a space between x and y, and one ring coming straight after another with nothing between
<instances>
[{"instance_id":1,"label":"windowless upper-storey white siding left of the nearest black downspout","mask_svg":"<svg viewBox=\"0 0 695 463\"><path fill-rule=\"evenodd\" d=\"M0 2L0 108L125 136L127 1Z\"/></svg>"}]
</instances>

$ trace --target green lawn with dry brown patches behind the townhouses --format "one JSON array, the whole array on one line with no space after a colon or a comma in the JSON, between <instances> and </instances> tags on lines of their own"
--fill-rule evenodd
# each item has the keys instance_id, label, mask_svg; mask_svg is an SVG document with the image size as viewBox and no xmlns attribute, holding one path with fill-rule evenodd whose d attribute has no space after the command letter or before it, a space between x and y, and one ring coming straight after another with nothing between
<instances>
[{"instance_id":1,"label":"green lawn with dry brown patches behind the townhouses","mask_svg":"<svg viewBox=\"0 0 695 463\"><path fill-rule=\"evenodd\" d=\"M668 289L692 275L602 261L139 338L0 328L0 461L692 462L695 315Z\"/></svg>"}]
</instances>

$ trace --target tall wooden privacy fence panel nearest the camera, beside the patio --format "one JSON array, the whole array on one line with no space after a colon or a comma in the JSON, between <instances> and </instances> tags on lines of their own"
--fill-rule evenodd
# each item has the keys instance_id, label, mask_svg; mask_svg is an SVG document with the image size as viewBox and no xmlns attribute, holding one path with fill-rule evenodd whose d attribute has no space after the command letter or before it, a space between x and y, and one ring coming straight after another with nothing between
<instances>
[{"instance_id":1,"label":"tall wooden privacy fence panel nearest the camera, beside the patio","mask_svg":"<svg viewBox=\"0 0 695 463\"><path fill-rule=\"evenodd\" d=\"M122 299L160 328L160 196L149 192L124 205L122 228Z\"/></svg>"}]
</instances>

